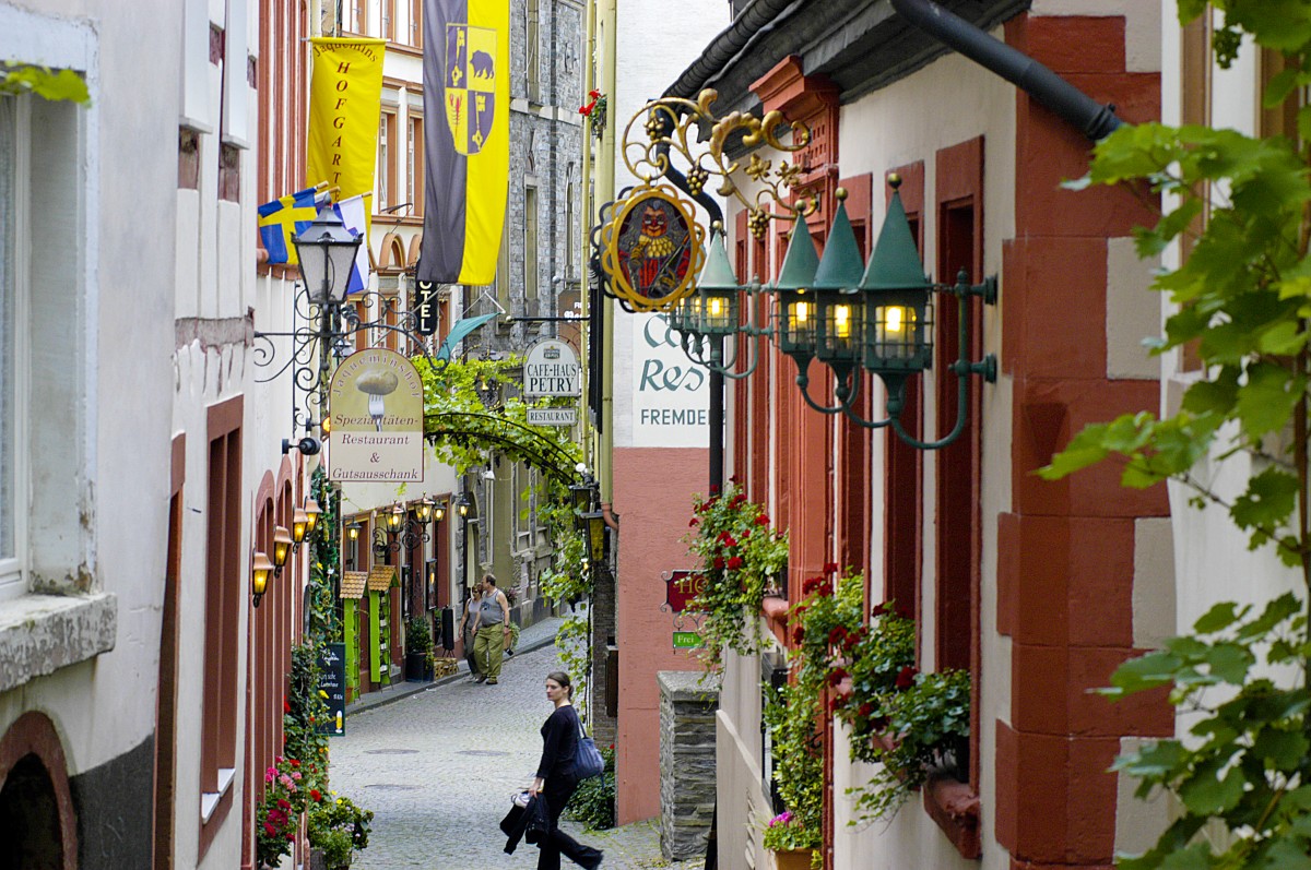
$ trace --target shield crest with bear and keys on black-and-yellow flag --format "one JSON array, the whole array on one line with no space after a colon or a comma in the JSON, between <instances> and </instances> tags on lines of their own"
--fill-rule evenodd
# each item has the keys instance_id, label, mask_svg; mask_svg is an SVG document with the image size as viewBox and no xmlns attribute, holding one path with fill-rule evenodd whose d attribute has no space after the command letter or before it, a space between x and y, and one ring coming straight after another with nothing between
<instances>
[{"instance_id":1,"label":"shield crest with bear and keys on black-and-yellow flag","mask_svg":"<svg viewBox=\"0 0 1311 870\"><path fill-rule=\"evenodd\" d=\"M496 30L446 25L446 123L455 149L476 155L486 145L496 115Z\"/></svg>"}]
</instances>

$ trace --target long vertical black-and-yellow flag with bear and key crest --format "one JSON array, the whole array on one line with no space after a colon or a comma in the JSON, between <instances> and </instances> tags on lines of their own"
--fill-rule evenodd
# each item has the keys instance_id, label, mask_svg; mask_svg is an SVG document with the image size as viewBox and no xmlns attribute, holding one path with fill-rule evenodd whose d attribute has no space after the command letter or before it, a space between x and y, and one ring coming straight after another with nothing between
<instances>
[{"instance_id":1,"label":"long vertical black-and-yellow flag with bear and key crest","mask_svg":"<svg viewBox=\"0 0 1311 870\"><path fill-rule=\"evenodd\" d=\"M509 0L425 0L418 279L490 284L510 185Z\"/></svg>"}]
</instances>

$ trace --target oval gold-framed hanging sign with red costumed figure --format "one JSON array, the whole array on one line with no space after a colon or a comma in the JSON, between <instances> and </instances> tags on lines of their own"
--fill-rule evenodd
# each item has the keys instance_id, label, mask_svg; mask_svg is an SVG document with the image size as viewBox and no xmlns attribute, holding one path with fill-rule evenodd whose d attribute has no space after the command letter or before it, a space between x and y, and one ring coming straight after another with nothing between
<instances>
[{"instance_id":1,"label":"oval gold-framed hanging sign with red costumed figure","mask_svg":"<svg viewBox=\"0 0 1311 870\"><path fill-rule=\"evenodd\" d=\"M610 290L633 311L669 311L695 290L705 231L692 203L667 185L638 187L615 204L602 231L600 266Z\"/></svg>"}]
</instances>

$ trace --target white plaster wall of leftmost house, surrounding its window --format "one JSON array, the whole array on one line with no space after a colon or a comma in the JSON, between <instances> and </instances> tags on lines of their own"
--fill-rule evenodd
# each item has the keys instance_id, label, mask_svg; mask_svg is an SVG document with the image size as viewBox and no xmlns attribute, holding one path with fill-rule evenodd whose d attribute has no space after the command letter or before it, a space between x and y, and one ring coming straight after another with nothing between
<instances>
[{"instance_id":1,"label":"white plaster wall of leftmost house, surrounding its window","mask_svg":"<svg viewBox=\"0 0 1311 870\"><path fill-rule=\"evenodd\" d=\"M16 666L0 734L29 711L50 718L67 760L52 773L87 786L75 812L119 823L111 839L88 828L80 857L113 867L149 861L181 30L181 7L163 0L0 3L0 59L75 69L90 94L87 107L24 98L39 134L20 165L31 200L14 248L30 301L16 366L26 527L24 579L0 603L0 658ZM143 34L169 37L122 50ZM102 774L128 790L104 790Z\"/></svg>"}]
</instances>

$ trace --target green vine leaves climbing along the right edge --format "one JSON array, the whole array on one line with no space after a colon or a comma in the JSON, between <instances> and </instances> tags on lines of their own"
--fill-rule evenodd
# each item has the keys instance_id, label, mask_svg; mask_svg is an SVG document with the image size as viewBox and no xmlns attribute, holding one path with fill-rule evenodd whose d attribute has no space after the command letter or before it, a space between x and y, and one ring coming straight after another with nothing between
<instances>
[{"instance_id":1,"label":"green vine leaves climbing along the right edge","mask_svg":"<svg viewBox=\"0 0 1311 870\"><path fill-rule=\"evenodd\" d=\"M1155 257L1186 245L1155 290L1173 313L1156 352L1188 346L1202 376L1172 417L1139 413L1087 427L1041 470L1059 478L1108 457L1122 482L1175 480L1196 506L1228 512L1252 549L1273 546L1311 583L1307 414L1311 384L1311 3L1180 0L1188 24L1217 10L1217 63L1256 46L1283 56L1266 107L1293 102L1294 138L1247 136L1203 126L1122 127L1097 145L1074 187L1127 185L1159 195L1154 227L1135 233ZM1236 495L1196 470L1243 457L1251 473ZM1303 597L1306 596L1303 590ZM1215 605L1159 651L1124 664L1105 694L1167 689L1189 713L1181 739L1148 742L1116 769L1141 780L1139 797L1164 789L1177 818L1131 870L1311 867L1311 706L1304 603L1283 595L1264 607Z\"/></svg>"}]
</instances>

